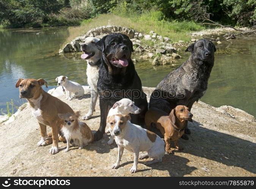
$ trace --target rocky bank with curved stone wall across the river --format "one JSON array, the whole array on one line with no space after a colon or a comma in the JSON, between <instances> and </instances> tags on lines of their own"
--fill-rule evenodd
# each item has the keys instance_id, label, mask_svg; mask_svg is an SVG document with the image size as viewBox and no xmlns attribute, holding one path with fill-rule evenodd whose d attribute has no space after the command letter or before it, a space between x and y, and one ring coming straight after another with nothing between
<instances>
[{"instance_id":1,"label":"rocky bank with curved stone wall across the river","mask_svg":"<svg viewBox=\"0 0 256 189\"><path fill-rule=\"evenodd\" d=\"M250 28L239 29L252 31ZM91 29L85 35L76 37L70 43L67 43L63 49L60 49L59 53L81 52L80 43L86 37L97 37L101 39L103 36L113 32L120 32L129 36L133 43L135 53L140 54L140 59L152 59L151 62L154 66L168 64L174 66L175 59L182 58L178 52L198 39L210 39L217 44L221 44L221 40L235 39L235 34L241 33L241 31L236 31L232 28L206 29L191 33L192 39L189 42L180 40L179 42L172 43L170 38L160 36L154 31L150 31L149 34L143 34L120 26L101 26ZM133 62L136 63L136 59Z\"/></svg>"}]
</instances>

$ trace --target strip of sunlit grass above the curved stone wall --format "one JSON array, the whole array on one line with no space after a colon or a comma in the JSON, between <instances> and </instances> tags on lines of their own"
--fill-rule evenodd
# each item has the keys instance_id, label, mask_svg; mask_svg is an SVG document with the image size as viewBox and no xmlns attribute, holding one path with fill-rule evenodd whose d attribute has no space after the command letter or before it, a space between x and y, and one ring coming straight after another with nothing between
<instances>
[{"instance_id":1,"label":"strip of sunlit grass above the curved stone wall","mask_svg":"<svg viewBox=\"0 0 256 189\"><path fill-rule=\"evenodd\" d=\"M192 21L166 21L159 15L158 11L149 11L141 15L133 14L126 16L101 14L93 19L83 21L80 26L69 27L70 35L61 46L63 47L66 43L75 39L75 37L87 33L90 29L106 25L122 26L147 34L152 30L163 37L169 37L172 42L178 42L179 40L189 41L191 39L189 35L191 31L204 29L202 26Z\"/></svg>"}]
</instances>

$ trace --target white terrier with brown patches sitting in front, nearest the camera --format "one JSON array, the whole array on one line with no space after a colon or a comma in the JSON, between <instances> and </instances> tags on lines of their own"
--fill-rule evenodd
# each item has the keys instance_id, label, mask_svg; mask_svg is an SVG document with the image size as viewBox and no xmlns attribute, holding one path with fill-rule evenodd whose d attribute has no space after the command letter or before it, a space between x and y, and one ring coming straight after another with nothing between
<instances>
[{"instance_id":1,"label":"white terrier with brown patches sitting in front, nearest the camera","mask_svg":"<svg viewBox=\"0 0 256 189\"><path fill-rule=\"evenodd\" d=\"M121 161L124 148L133 152L133 166L130 173L137 171L138 159L153 158L146 161L145 165L161 162L165 155L165 143L149 130L143 129L139 125L130 122L129 115L112 115L107 118L108 125L112 128L115 135L115 141L118 145L118 158L112 165L112 169L117 169ZM139 156L139 152L147 152Z\"/></svg>"}]
</instances>

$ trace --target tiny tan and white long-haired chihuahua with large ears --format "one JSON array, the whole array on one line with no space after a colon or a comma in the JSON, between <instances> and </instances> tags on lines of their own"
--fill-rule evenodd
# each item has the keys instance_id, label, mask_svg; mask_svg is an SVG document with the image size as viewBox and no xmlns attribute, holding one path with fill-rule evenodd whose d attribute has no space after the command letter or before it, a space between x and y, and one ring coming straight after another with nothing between
<instances>
[{"instance_id":1,"label":"tiny tan and white long-haired chihuahua with large ears","mask_svg":"<svg viewBox=\"0 0 256 189\"><path fill-rule=\"evenodd\" d=\"M63 127L61 131L67 140L67 148L64 152L69 151L70 140L74 140L74 144L79 146L79 149L83 149L84 146L88 145L88 143L93 142L93 133L91 129L86 125L86 123L79 121L80 112L75 112L75 114L66 113L61 114L58 113L59 118L61 118L63 122Z\"/></svg>"}]
</instances>

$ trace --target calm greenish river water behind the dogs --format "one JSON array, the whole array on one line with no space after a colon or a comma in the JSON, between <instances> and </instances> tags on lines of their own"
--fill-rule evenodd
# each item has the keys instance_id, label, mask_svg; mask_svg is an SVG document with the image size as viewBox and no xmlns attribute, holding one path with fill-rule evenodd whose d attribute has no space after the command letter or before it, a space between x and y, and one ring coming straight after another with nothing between
<instances>
[{"instance_id":1,"label":"calm greenish river water behind the dogs","mask_svg":"<svg viewBox=\"0 0 256 189\"><path fill-rule=\"evenodd\" d=\"M0 109L3 113L6 113L6 102L11 99L16 106L26 102L19 99L15 88L19 78L43 78L49 85L48 89L43 87L44 90L56 87L55 78L60 75L87 84L86 63L80 59L80 53L58 54L60 44L68 36L66 28L0 29ZM256 36L223 41L216 44L216 48L208 89L201 101L215 107L231 105L256 116ZM183 58L177 60L176 66L153 67L149 60L138 60L135 68L142 85L155 87L189 56L189 52L179 54Z\"/></svg>"}]
</instances>

